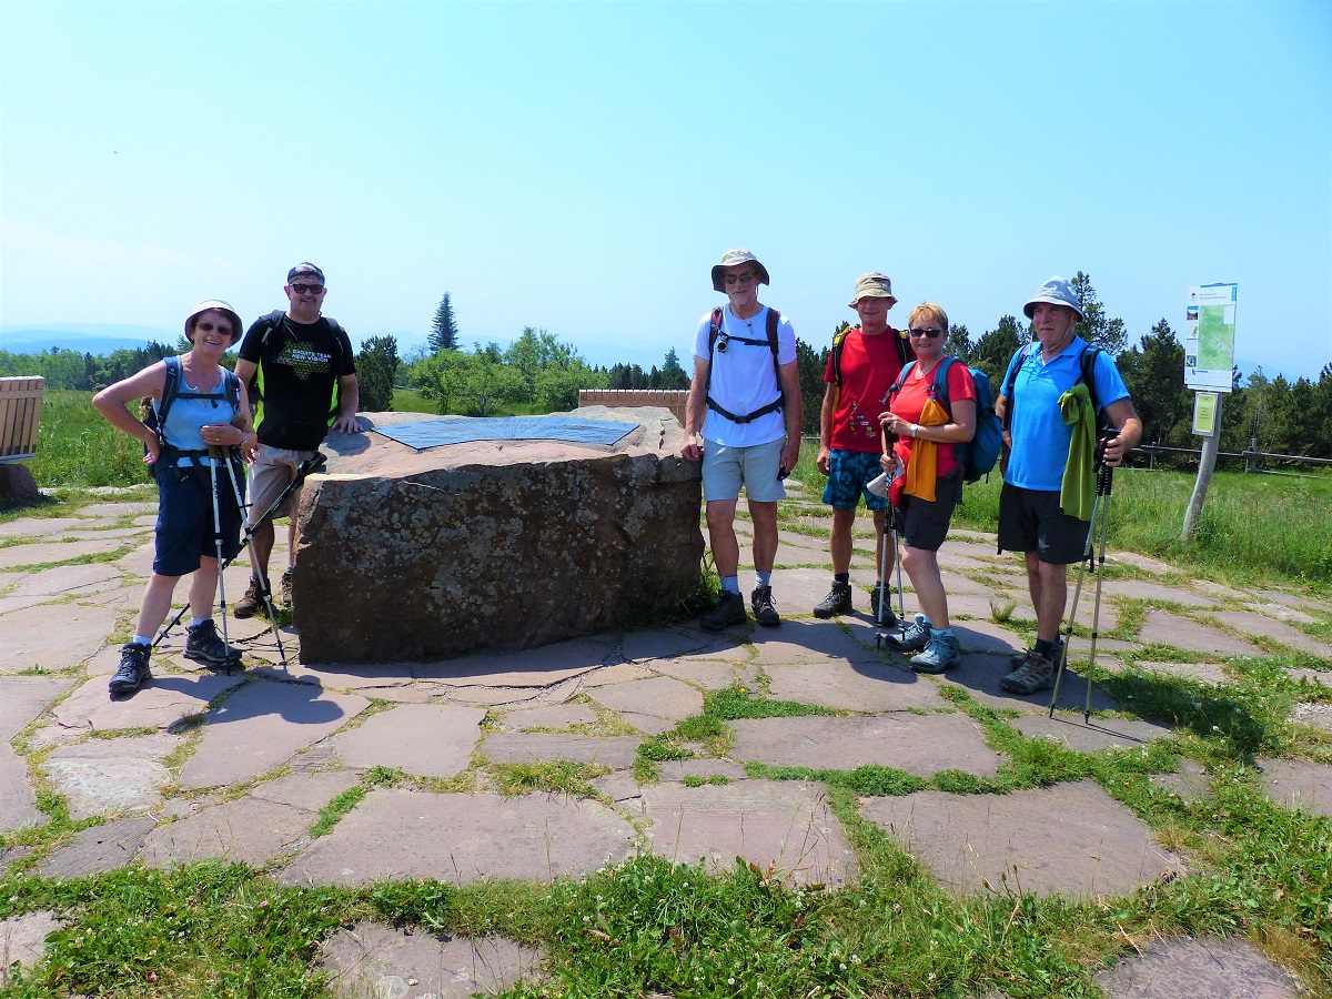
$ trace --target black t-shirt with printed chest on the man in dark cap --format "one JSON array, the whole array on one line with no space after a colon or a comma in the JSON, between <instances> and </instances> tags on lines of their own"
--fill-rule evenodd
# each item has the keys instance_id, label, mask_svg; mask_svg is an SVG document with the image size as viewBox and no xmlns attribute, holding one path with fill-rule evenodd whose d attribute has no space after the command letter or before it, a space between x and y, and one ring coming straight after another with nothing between
<instances>
[{"instance_id":1,"label":"black t-shirt with printed chest on the man in dark cap","mask_svg":"<svg viewBox=\"0 0 1332 999\"><path fill-rule=\"evenodd\" d=\"M252 393L258 401L260 444L302 452L318 448L337 416L338 378L356 374L346 332L322 316L297 322L274 312L245 333L240 358L258 365Z\"/></svg>"}]
</instances>

